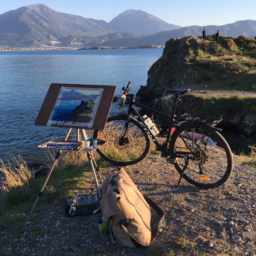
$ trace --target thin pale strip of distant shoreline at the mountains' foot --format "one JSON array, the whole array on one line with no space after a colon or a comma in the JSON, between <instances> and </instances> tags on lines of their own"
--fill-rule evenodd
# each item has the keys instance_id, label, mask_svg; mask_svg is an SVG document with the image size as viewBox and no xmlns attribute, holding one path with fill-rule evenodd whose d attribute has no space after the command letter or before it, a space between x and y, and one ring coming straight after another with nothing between
<instances>
[{"instance_id":1,"label":"thin pale strip of distant shoreline at the mountains' foot","mask_svg":"<svg viewBox=\"0 0 256 256\"><path fill-rule=\"evenodd\" d=\"M53 47L53 48L0 48L0 51L56 51L56 50L101 50L101 49L148 49L165 48L164 45L140 45L136 47L110 47L94 46L90 48L71 48L71 47Z\"/></svg>"}]
</instances>

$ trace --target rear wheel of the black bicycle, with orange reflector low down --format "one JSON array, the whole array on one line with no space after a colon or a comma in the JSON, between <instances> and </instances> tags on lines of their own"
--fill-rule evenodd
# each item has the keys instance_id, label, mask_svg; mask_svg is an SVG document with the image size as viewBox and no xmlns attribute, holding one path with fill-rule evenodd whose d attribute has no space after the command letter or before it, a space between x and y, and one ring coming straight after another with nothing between
<instances>
[{"instance_id":1,"label":"rear wheel of the black bicycle, with orange reflector low down","mask_svg":"<svg viewBox=\"0 0 256 256\"><path fill-rule=\"evenodd\" d=\"M219 187L233 171L229 144L219 132L205 123L183 123L172 134L170 150L173 154L190 158L194 155L194 160L188 160L183 177L196 187ZM184 165L185 159L176 157L174 166L180 174Z\"/></svg>"}]
</instances>

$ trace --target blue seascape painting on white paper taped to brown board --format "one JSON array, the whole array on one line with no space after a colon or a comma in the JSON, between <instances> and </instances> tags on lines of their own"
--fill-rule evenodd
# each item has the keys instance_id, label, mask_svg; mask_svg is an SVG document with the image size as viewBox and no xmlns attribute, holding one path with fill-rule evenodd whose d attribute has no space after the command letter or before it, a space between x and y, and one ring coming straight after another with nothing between
<instances>
[{"instance_id":1,"label":"blue seascape painting on white paper taped to brown board","mask_svg":"<svg viewBox=\"0 0 256 256\"><path fill-rule=\"evenodd\" d=\"M103 89L62 87L47 125L74 126L77 123L91 128L99 107Z\"/></svg>"}]
</instances>

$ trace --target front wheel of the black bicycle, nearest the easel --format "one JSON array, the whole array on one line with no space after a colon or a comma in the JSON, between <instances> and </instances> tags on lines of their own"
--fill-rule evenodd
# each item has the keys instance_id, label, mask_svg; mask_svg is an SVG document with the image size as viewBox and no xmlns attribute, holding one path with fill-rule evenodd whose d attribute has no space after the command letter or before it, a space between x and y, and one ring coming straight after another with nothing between
<instances>
[{"instance_id":1,"label":"front wheel of the black bicycle, nearest the easel","mask_svg":"<svg viewBox=\"0 0 256 256\"><path fill-rule=\"evenodd\" d=\"M106 145L97 149L104 160L120 166L134 165L141 161L149 152L149 137L139 122L131 118L128 123L128 140L121 145L124 125L127 121L126 115L108 117L104 130L95 130L94 137L97 138L102 132L106 139Z\"/></svg>"}]
</instances>

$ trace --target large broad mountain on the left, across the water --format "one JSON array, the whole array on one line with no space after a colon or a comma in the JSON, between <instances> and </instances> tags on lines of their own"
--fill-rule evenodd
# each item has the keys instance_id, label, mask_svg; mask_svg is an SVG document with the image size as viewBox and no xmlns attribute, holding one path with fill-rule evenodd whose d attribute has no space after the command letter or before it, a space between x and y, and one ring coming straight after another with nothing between
<instances>
[{"instance_id":1,"label":"large broad mountain on the left, across the water","mask_svg":"<svg viewBox=\"0 0 256 256\"><path fill-rule=\"evenodd\" d=\"M58 45L62 37L99 36L112 32L100 24L104 21L60 13L47 5L23 6L0 15L0 46Z\"/></svg>"}]
</instances>

